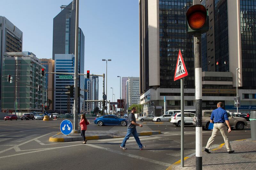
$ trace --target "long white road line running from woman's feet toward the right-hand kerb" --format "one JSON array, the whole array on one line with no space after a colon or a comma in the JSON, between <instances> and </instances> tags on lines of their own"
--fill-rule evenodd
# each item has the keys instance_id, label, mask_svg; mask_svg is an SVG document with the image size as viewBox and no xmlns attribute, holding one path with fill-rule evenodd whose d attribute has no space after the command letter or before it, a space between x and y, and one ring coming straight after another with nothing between
<instances>
[{"instance_id":1,"label":"long white road line running from woman's feet toward the right-hand kerb","mask_svg":"<svg viewBox=\"0 0 256 170\"><path fill-rule=\"evenodd\" d=\"M120 155L128 156L128 157L131 157L131 158L144 160L144 161L154 163L154 164L158 164L158 165L162 165L162 166L171 166L171 164L168 164L168 163L165 163L165 162L161 162L161 161L154 160L154 159L148 159L148 158L141 157L141 156L138 156L138 155L133 155L133 154L130 154L130 153L127 153L127 152L116 151L116 150L113 150L113 149L110 149L110 148L104 148L104 147L93 145L93 144L86 144L86 145L94 147L94 148L102 149L102 150L105 150L105 151L117 153L117 154L120 154Z\"/></svg>"}]
</instances>

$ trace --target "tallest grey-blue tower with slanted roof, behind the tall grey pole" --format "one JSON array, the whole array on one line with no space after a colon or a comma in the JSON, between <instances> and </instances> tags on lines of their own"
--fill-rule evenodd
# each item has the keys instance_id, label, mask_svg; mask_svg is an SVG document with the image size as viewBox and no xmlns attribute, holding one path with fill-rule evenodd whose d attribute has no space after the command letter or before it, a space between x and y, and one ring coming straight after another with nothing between
<instances>
[{"instance_id":1,"label":"tallest grey-blue tower with slanted roof, behind the tall grey pole","mask_svg":"<svg viewBox=\"0 0 256 170\"><path fill-rule=\"evenodd\" d=\"M60 13L53 18L53 60L59 54L75 54L76 1L61 5L60 8ZM81 28L78 29L78 73L84 74L84 33ZM81 110L84 100L84 77L80 76L78 86L81 89L78 101Z\"/></svg>"}]
</instances>

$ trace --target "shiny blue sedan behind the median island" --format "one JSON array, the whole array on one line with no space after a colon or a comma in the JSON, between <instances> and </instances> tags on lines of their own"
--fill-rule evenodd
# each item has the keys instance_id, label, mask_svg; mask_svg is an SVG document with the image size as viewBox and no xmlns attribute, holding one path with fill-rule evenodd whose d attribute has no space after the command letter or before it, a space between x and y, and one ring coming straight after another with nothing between
<instances>
[{"instance_id":1,"label":"shiny blue sedan behind the median island","mask_svg":"<svg viewBox=\"0 0 256 170\"><path fill-rule=\"evenodd\" d=\"M94 124L102 125L121 125L127 126L128 120L116 115L105 115L94 119Z\"/></svg>"}]
</instances>

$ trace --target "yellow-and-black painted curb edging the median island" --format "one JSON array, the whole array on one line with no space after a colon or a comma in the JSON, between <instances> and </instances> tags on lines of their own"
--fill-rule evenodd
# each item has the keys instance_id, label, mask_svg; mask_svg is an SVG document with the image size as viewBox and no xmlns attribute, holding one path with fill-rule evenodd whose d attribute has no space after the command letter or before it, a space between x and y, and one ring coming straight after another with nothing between
<instances>
[{"instance_id":1,"label":"yellow-and-black painted curb edging the median island","mask_svg":"<svg viewBox=\"0 0 256 170\"><path fill-rule=\"evenodd\" d=\"M49 138L49 142L74 142L74 141L83 141L83 137L55 137L59 135L61 132L57 133L56 135ZM138 133L139 136L148 136L148 135L158 135L161 134L161 131L154 131L154 132L140 132ZM111 138L119 138L125 136L117 136L117 137L110 137L108 135L101 135L101 136L88 136L86 140L98 140L98 139L111 139Z\"/></svg>"}]
</instances>

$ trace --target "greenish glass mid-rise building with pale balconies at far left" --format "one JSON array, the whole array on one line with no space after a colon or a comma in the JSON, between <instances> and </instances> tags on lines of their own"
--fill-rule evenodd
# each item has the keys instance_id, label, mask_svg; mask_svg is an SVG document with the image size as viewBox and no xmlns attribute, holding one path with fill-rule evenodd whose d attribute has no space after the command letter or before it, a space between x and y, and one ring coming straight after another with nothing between
<instances>
[{"instance_id":1,"label":"greenish glass mid-rise building with pale balconies at far left","mask_svg":"<svg viewBox=\"0 0 256 170\"><path fill-rule=\"evenodd\" d=\"M2 112L41 112L46 89L40 59L28 51L8 52L4 53L2 68ZM7 81L8 75L12 76L12 83Z\"/></svg>"}]
</instances>

